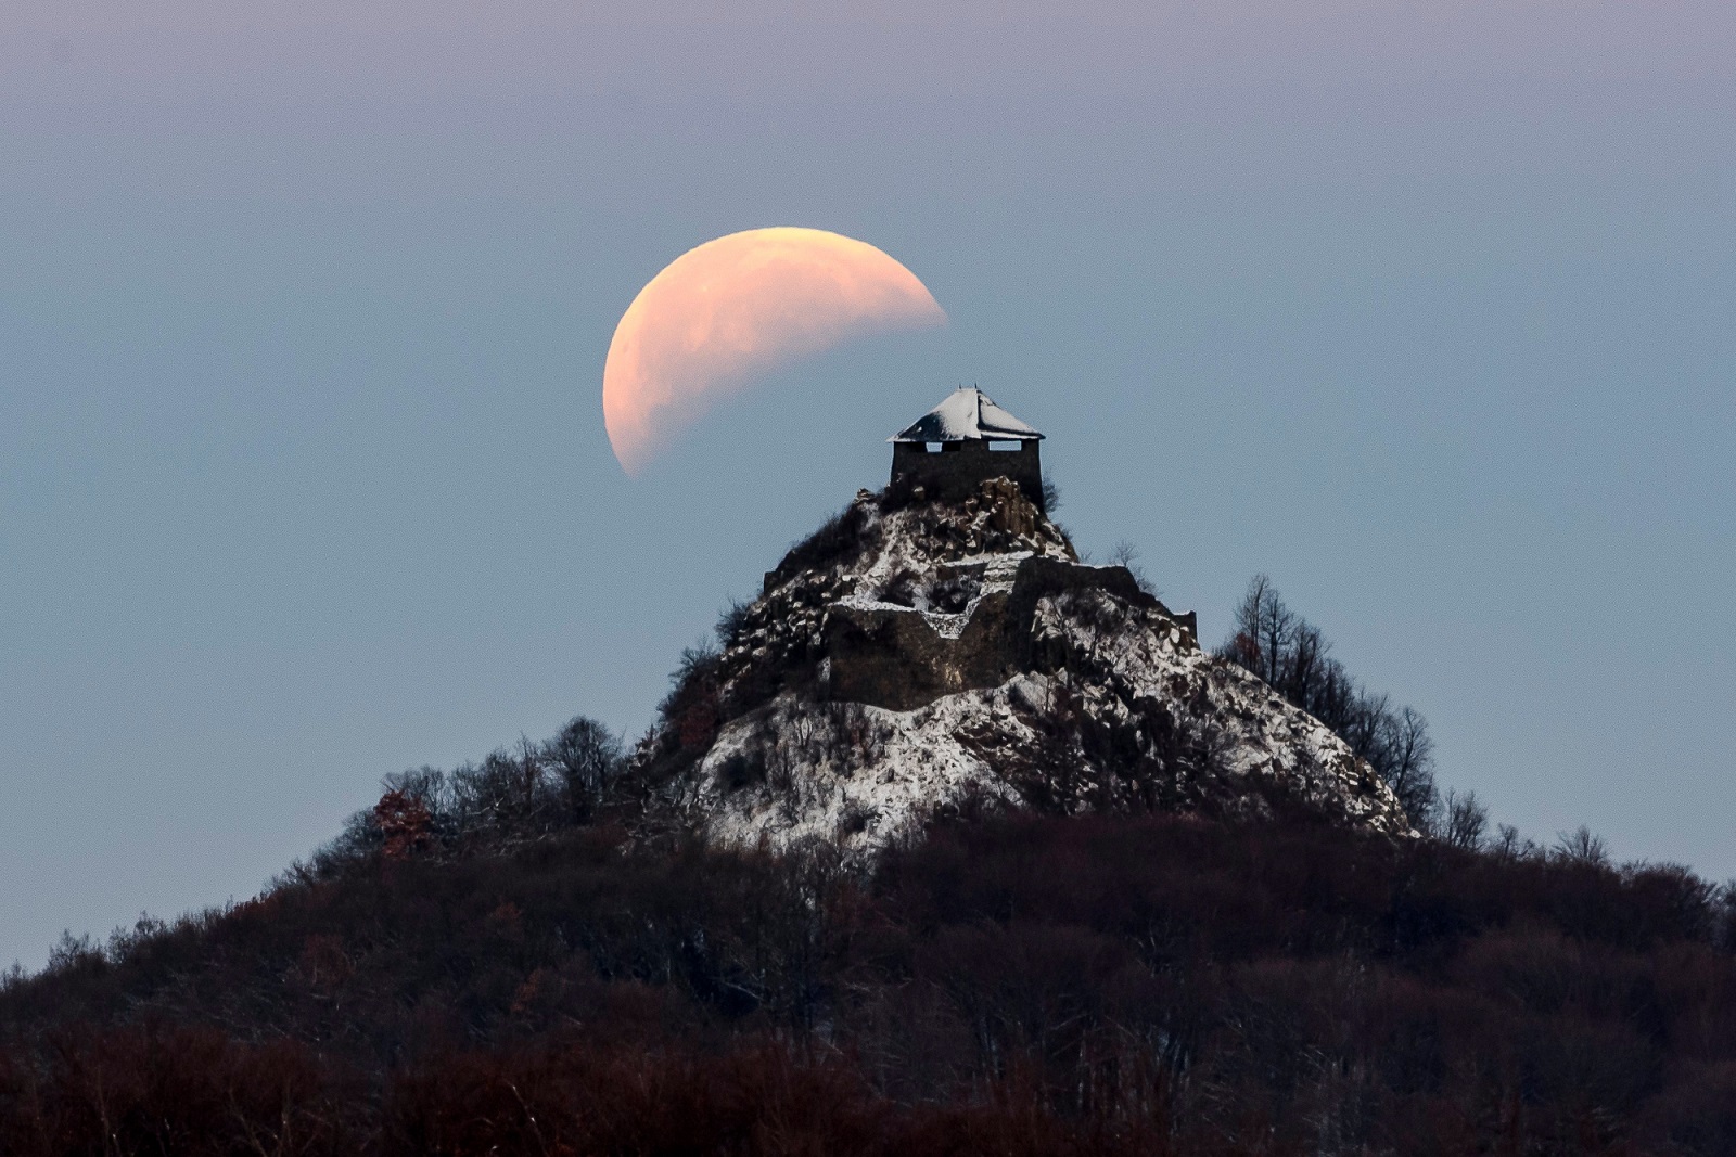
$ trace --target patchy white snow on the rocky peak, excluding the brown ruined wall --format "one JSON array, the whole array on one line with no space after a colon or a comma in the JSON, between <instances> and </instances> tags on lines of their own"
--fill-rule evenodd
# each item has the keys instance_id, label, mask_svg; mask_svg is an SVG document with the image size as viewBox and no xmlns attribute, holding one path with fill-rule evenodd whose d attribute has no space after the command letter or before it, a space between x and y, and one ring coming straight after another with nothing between
<instances>
[{"instance_id":1,"label":"patchy white snow on the rocky peak, excluding the brown ruined wall","mask_svg":"<svg viewBox=\"0 0 1736 1157\"><path fill-rule=\"evenodd\" d=\"M764 663L825 671L816 652L833 607L920 614L957 640L1031 557L1080 564L1010 484L986 484L963 507L880 513L866 493L858 503L866 546L767 590L726 673ZM998 687L913 711L783 690L724 722L684 781L684 810L719 843L828 840L859 853L967 796L1087 810L1154 807L1158 791L1167 807L1255 815L1283 796L1351 826L1410 833L1392 793L1323 723L1201 652L1161 607L1085 586L1036 602L1028 630L1040 661Z\"/></svg>"}]
</instances>

